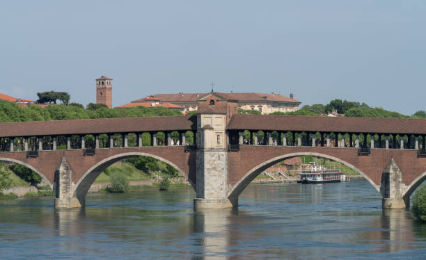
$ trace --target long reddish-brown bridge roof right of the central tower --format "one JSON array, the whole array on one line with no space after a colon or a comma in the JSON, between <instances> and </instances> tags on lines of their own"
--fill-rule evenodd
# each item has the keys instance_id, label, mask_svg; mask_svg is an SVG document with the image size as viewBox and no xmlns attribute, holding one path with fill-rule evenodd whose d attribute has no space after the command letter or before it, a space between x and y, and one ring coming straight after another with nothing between
<instances>
[{"instance_id":1,"label":"long reddish-brown bridge roof right of the central tower","mask_svg":"<svg viewBox=\"0 0 426 260\"><path fill-rule=\"evenodd\" d=\"M233 115L228 129L426 134L426 119Z\"/></svg>"}]
</instances>

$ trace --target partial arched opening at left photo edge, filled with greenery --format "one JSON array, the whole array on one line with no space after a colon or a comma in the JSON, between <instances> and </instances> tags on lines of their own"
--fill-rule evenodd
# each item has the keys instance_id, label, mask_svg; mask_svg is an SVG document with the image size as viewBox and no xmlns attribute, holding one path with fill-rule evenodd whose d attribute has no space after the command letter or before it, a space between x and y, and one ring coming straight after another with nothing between
<instances>
[{"instance_id":1,"label":"partial arched opening at left photo edge, filled with greenery","mask_svg":"<svg viewBox=\"0 0 426 260\"><path fill-rule=\"evenodd\" d=\"M1 181L3 184L7 184L6 187L3 187L3 192L5 193L9 193L6 190L10 188L22 187L17 190L19 194L16 195L26 195L29 192L38 193L38 195L53 194L52 183L49 179L28 163L15 159L0 158L0 172Z\"/></svg>"}]
</instances>

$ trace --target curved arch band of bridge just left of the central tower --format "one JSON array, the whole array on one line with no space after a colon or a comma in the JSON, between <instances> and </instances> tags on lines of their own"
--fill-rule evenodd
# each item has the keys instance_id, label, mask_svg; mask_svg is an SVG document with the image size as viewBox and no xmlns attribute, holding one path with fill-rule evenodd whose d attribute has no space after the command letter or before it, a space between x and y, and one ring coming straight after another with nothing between
<instances>
[{"instance_id":1,"label":"curved arch band of bridge just left of the central tower","mask_svg":"<svg viewBox=\"0 0 426 260\"><path fill-rule=\"evenodd\" d=\"M108 158L95 163L95 165L93 165L86 172L84 172L83 176L79 179L77 184L74 185L74 189L72 191L73 197L77 197L77 199L79 199L80 202L84 202L84 198L86 197L88 189L93 184L93 181L95 181L95 179L99 176L99 174L103 172L105 169L107 169L109 166L111 166L113 163L116 163L117 161L120 161L121 159L130 157L130 156L148 156L148 157L158 159L159 161L163 161L164 163L167 163L168 165L173 166L173 168L175 168L181 174L187 177L189 183L194 188L194 184L189 179L188 172L185 172L184 170L179 168L177 165L175 165L175 163L172 163L171 161L168 161L167 159L164 159L160 156L157 156L154 154L148 154L145 152L125 152L123 154L116 154L113 156L109 156Z\"/></svg>"}]
</instances>

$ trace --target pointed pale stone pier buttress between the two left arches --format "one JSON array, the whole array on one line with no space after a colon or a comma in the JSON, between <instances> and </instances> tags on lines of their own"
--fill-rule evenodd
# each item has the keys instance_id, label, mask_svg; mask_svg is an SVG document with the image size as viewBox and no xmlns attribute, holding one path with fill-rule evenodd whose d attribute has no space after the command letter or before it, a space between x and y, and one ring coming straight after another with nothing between
<instances>
[{"instance_id":1,"label":"pointed pale stone pier buttress between the two left arches","mask_svg":"<svg viewBox=\"0 0 426 260\"><path fill-rule=\"evenodd\" d=\"M62 161L55 171L54 179L55 209L79 208L86 204L86 197L79 200L72 196L72 190L74 190L72 168L65 156L62 157Z\"/></svg>"}]
</instances>

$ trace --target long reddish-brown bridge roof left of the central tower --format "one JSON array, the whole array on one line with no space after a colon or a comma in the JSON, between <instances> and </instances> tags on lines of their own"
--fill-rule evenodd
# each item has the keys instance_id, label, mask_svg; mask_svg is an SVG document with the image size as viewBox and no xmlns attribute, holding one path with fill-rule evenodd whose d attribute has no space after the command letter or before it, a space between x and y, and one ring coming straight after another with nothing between
<instances>
[{"instance_id":1,"label":"long reddish-brown bridge roof left of the central tower","mask_svg":"<svg viewBox=\"0 0 426 260\"><path fill-rule=\"evenodd\" d=\"M196 130L196 116L124 117L0 123L1 137Z\"/></svg>"}]
</instances>

